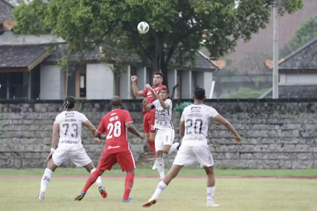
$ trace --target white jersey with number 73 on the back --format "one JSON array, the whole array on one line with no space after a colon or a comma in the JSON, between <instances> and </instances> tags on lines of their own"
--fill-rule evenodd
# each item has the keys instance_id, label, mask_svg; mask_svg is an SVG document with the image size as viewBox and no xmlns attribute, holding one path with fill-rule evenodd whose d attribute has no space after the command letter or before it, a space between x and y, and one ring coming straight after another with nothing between
<instances>
[{"instance_id":1,"label":"white jersey with number 73 on the back","mask_svg":"<svg viewBox=\"0 0 317 211\"><path fill-rule=\"evenodd\" d=\"M59 113L54 124L59 124L58 148L74 151L83 148L81 143L81 131L83 122L87 117L77 111L63 111Z\"/></svg>"}]
</instances>

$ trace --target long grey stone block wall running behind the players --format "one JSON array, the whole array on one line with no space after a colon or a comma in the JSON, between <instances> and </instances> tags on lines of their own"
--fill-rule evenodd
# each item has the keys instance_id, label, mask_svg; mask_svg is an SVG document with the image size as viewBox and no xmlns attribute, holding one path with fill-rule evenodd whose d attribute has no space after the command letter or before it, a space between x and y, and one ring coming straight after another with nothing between
<instances>
[{"instance_id":1,"label":"long grey stone block wall running behind the players","mask_svg":"<svg viewBox=\"0 0 317 211\"><path fill-rule=\"evenodd\" d=\"M179 103L179 102L175 102ZM109 111L108 101L84 101L76 108L95 126ZM232 135L212 122L210 150L215 165L223 168L301 169L317 168L317 100L220 100L208 101L227 118L243 137L235 144ZM51 144L51 131L61 101L0 102L0 167L38 168L45 166ZM141 101L123 101L134 125L142 131ZM179 113L173 114L178 135ZM129 135L136 160L144 152L145 140ZM104 147L94 144L89 131L83 131L83 143L97 163ZM174 155L167 158L171 163ZM66 163L65 166L72 165Z\"/></svg>"}]
</instances>

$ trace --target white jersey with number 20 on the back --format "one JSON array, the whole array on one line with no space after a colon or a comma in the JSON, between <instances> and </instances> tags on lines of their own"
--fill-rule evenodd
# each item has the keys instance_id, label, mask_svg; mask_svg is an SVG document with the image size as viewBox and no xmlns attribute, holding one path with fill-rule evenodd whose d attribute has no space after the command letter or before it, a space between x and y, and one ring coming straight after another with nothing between
<instances>
[{"instance_id":1,"label":"white jersey with number 20 on the back","mask_svg":"<svg viewBox=\"0 0 317 211\"><path fill-rule=\"evenodd\" d=\"M218 115L216 109L205 104L192 104L184 108L180 120L185 122L182 145L200 146L208 144L208 130L211 118Z\"/></svg>"}]
</instances>

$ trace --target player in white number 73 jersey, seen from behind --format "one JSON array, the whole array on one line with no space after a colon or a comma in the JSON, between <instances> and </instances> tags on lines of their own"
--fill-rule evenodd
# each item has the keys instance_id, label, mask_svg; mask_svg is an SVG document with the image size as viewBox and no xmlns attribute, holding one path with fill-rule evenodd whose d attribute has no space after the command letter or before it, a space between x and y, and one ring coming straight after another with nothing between
<instances>
[{"instance_id":1,"label":"player in white number 73 jersey, seen from behind","mask_svg":"<svg viewBox=\"0 0 317 211\"><path fill-rule=\"evenodd\" d=\"M105 135L95 136L96 128L87 119L87 117L77 111L75 108L74 97L67 97L64 100L64 111L59 113L53 125L52 148L46 159L47 167L41 179L41 189L38 200L43 200L47 186L55 169L62 163L70 160L77 167L85 167L89 173L93 173L96 169L90 157L88 157L85 148L81 143L82 125L85 125L93 135L95 143L99 143L99 139L106 139ZM58 147L55 150L56 144ZM101 178L96 181L98 190L103 198L107 197L107 192L101 184Z\"/></svg>"}]
</instances>

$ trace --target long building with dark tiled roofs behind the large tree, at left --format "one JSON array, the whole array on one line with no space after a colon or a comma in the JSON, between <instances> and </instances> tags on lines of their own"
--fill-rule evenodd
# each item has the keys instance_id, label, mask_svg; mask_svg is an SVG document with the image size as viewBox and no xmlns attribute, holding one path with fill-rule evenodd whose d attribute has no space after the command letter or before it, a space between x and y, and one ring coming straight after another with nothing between
<instances>
[{"instance_id":1,"label":"long building with dark tiled roofs behind the large tree, at left","mask_svg":"<svg viewBox=\"0 0 317 211\"><path fill-rule=\"evenodd\" d=\"M110 99L114 94L122 99L132 99L131 75L138 76L139 89L144 89L146 83L152 83L150 64L139 67L138 55L125 55L117 49L111 49L112 54L128 57L131 61L121 76L113 73L113 64L100 63L102 54L98 48L83 55L70 55L69 61L77 61L80 57L82 61L81 65L71 66L67 74L57 65L66 53L65 41L51 34L14 35L12 26L16 22L11 15L13 9L14 5L0 0L0 99L63 99L65 95L77 99ZM59 43L58 49L49 55L47 45L53 40ZM224 65L223 61L210 61L197 51L194 67L187 62L168 72L169 89L178 85L177 98L191 98L196 86L203 86L208 93L213 72ZM177 64L173 64L175 66Z\"/></svg>"}]
</instances>

